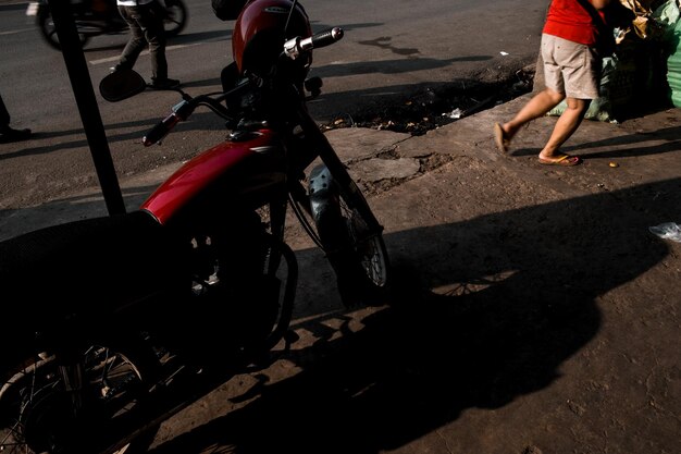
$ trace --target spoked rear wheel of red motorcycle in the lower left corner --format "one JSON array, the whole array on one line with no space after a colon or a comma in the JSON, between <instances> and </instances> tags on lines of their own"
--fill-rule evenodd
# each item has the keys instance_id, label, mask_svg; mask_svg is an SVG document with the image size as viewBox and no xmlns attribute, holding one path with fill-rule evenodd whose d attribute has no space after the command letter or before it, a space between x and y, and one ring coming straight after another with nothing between
<instances>
[{"instance_id":1,"label":"spoked rear wheel of red motorcycle in the lower left corner","mask_svg":"<svg viewBox=\"0 0 681 454\"><path fill-rule=\"evenodd\" d=\"M96 392L97 415L91 419L115 421L144 398L145 376L151 376L146 355L123 354L101 345L84 354L85 376ZM71 433L71 404L53 356L45 353L27 359L0 381L0 451L3 453L61 453L69 445L88 441L89 430ZM91 424L88 417L88 424ZM95 422L96 424L96 422ZM97 427L94 427L97 429ZM143 432L115 453L143 453L153 442L158 428ZM96 437L96 435L95 435ZM69 441L65 441L69 440ZM72 447L73 449L73 447Z\"/></svg>"}]
</instances>

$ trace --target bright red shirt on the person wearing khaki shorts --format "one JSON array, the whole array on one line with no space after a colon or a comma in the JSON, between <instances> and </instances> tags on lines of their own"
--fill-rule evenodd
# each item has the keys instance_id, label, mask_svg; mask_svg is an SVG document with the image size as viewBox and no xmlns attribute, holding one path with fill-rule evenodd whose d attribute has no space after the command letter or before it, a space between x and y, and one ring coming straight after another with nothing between
<instances>
[{"instance_id":1,"label":"bright red shirt on the person wearing khaki shorts","mask_svg":"<svg viewBox=\"0 0 681 454\"><path fill-rule=\"evenodd\" d=\"M594 46L598 28L592 14L578 0L552 0L543 33Z\"/></svg>"}]
</instances>

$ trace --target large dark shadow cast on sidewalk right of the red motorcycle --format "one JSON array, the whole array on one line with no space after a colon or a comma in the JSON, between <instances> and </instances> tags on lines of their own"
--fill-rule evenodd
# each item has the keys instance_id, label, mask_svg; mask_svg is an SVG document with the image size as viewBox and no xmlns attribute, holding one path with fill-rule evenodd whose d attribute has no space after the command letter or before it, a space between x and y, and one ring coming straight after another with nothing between
<instances>
[{"instance_id":1,"label":"large dark shadow cast on sidewalk right of the red motorcycle","mask_svg":"<svg viewBox=\"0 0 681 454\"><path fill-rule=\"evenodd\" d=\"M153 452L376 454L466 409L499 408L545 389L598 333L596 298L669 254L647 226L651 211L672 212L681 201L679 184L388 231L394 307L299 314L308 317L296 327L302 347L294 344L255 383L243 381L228 403L202 405L232 409ZM655 194L669 197L652 204ZM301 285L326 272L313 249L298 256ZM335 291L318 285L304 289L306 298Z\"/></svg>"}]
</instances>

